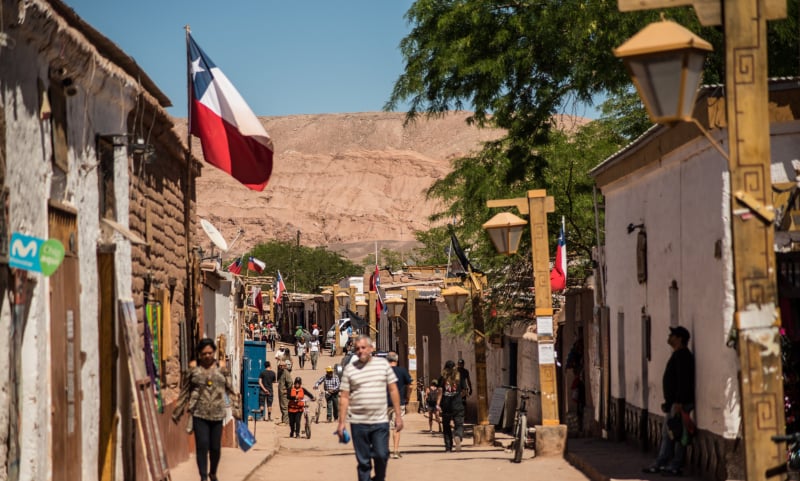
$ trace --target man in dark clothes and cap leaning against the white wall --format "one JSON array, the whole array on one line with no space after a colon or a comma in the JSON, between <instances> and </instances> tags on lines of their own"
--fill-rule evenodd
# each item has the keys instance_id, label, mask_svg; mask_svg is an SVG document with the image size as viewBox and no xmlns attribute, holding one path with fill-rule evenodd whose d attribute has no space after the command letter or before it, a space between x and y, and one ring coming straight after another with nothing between
<instances>
[{"instance_id":1,"label":"man in dark clothes and cap leaning against the white wall","mask_svg":"<svg viewBox=\"0 0 800 481\"><path fill-rule=\"evenodd\" d=\"M664 426L661 433L661 447L656 461L644 471L661 472L664 475L680 476L686 457L683 437L683 414L694 409L694 355L687 347L689 331L682 326L669 328L667 343L672 348L672 356L667 361L662 379L664 390Z\"/></svg>"}]
</instances>

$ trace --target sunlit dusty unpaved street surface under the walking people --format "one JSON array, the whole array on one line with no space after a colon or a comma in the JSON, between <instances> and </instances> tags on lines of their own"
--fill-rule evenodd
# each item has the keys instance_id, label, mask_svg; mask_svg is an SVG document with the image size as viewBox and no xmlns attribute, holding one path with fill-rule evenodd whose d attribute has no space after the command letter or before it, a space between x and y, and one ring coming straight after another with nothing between
<instances>
[{"instance_id":1,"label":"sunlit dusty unpaved street surface under the walking people","mask_svg":"<svg viewBox=\"0 0 800 481\"><path fill-rule=\"evenodd\" d=\"M304 386L310 388L324 373L324 368L333 358L323 356L317 371L295 368L293 375L303 378ZM338 360L338 359L337 359ZM295 364L296 365L296 364ZM277 400L276 406L277 408ZM280 451L265 465L256 470L248 481L273 481L281 479L303 479L321 481L352 481L356 479L356 459L352 443L339 444L333 435L335 424L325 423L323 410L320 424L312 425L311 439L289 438L289 427L278 426ZM454 475L458 481L499 481L501 479L524 479L526 481L585 481L581 472L560 457L531 457L514 464L511 453L502 448L473 447L471 436L464 440L460 453L445 453L441 434L426 432L428 422L421 414L407 414L406 428L400 441L400 459L390 459L388 480L448 480ZM436 425L434 424L434 429ZM508 444L507 435L499 433L498 440Z\"/></svg>"}]
</instances>

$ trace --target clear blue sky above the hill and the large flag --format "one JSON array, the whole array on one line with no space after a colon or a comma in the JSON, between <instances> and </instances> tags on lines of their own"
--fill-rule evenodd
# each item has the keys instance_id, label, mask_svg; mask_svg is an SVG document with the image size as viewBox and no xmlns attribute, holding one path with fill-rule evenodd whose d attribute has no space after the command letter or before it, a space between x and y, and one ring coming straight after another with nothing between
<instances>
[{"instance_id":1,"label":"clear blue sky above the hill and the large flag","mask_svg":"<svg viewBox=\"0 0 800 481\"><path fill-rule=\"evenodd\" d=\"M186 116L184 25L256 115L372 112L403 72L412 0L65 0Z\"/></svg>"}]
</instances>

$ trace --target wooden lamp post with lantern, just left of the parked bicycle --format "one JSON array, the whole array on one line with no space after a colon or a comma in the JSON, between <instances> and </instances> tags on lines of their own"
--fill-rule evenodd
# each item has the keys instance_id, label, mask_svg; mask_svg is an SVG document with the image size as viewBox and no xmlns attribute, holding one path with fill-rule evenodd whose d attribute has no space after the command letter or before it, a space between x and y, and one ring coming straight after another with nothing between
<instances>
[{"instance_id":1,"label":"wooden lamp post with lantern, just left of the parked bicycle","mask_svg":"<svg viewBox=\"0 0 800 481\"><path fill-rule=\"evenodd\" d=\"M478 395L478 422L474 428L473 443L476 446L494 444L494 426L489 424L489 385L486 380L486 327L481 310L481 296L486 283L482 275L470 270L467 277L469 290L460 286L450 286L442 290L447 309L459 314L472 298L473 349L475 351L475 392Z\"/></svg>"}]
</instances>

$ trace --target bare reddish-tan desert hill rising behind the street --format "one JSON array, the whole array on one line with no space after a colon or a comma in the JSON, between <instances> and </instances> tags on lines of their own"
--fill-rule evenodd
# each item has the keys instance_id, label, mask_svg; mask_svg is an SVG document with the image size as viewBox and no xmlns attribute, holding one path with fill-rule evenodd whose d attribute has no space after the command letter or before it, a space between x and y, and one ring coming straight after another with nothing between
<instances>
[{"instance_id":1,"label":"bare reddish-tan desert hill rising behind the street","mask_svg":"<svg viewBox=\"0 0 800 481\"><path fill-rule=\"evenodd\" d=\"M301 244L324 245L357 261L376 241L408 250L414 231L427 229L439 207L426 200L428 187L450 171L452 159L501 135L468 126L469 115L454 112L408 126L404 114L394 112L261 117L275 146L269 185L254 192L205 164L197 214L229 243L244 230L231 254L272 239L294 241L298 231ZM185 135L186 119L176 124ZM192 151L202 157L196 138ZM197 236L205 239L199 226Z\"/></svg>"}]
</instances>

